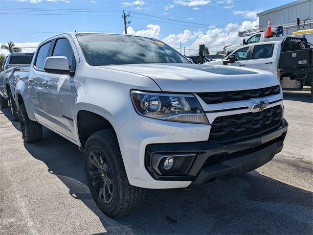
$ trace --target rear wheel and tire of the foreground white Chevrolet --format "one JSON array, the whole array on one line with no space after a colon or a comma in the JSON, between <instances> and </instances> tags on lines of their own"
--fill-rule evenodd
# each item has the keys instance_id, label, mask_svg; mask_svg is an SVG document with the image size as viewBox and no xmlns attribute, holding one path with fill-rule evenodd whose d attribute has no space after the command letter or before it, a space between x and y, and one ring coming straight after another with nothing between
<instances>
[{"instance_id":1,"label":"rear wheel and tire of the foreground white Chevrolet","mask_svg":"<svg viewBox=\"0 0 313 235\"><path fill-rule=\"evenodd\" d=\"M20 105L19 118L24 141L32 143L41 140L43 136L43 126L37 121L32 121L28 118L24 104Z\"/></svg>"}]
</instances>

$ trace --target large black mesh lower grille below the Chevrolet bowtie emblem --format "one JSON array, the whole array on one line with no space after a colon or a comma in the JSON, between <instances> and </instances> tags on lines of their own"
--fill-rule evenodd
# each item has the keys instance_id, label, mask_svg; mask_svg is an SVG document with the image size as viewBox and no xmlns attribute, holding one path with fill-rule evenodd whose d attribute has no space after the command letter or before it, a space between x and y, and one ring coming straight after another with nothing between
<instances>
[{"instance_id":1,"label":"large black mesh lower grille below the Chevrolet bowtie emblem","mask_svg":"<svg viewBox=\"0 0 313 235\"><path fill-rule=\"evenodd\" d=\"M258 138L280 125L280 105L258 113L244 113L215 118L211 124L209 141L228 143Z\"/></svg>"}]
</instances>

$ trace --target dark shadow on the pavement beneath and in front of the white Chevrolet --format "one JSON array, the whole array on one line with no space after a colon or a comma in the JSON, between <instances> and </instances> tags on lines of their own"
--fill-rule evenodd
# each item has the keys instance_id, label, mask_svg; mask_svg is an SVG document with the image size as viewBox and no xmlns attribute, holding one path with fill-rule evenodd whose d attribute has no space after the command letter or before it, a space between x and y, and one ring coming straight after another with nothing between
<instances>
[{"instance_id":1,"label":"dark shadow on the pavement beneath and in front of the white Chevrolet","mask_svg":"<svg viewBox=\"0 0 313 235\"><path fill-rule=\"evenodd\" d=\"M9 115L9 110L1 111ZM97 208L89 194L83 154L76 145L44 128L42 141L24 146L69 188L73 198L81 200L99 217L109 234L312 234L313 231L313 193L256 171L211 182L194 191L147 190L138 210L121 218L110 218Z\"/></svg>"}]
</instances>

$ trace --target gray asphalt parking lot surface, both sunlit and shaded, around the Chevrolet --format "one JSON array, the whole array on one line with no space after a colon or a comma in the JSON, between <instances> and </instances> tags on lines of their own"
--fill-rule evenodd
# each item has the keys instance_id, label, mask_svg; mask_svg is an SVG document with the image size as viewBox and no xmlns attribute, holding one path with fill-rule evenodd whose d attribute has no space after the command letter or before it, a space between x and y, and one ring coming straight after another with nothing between
<instances>
[{"instance_id":1,"label":"gray asphalt parking lot surface, both sunlit and shaded, around the Chevrolet","mask_svg":"<svg viewBox=\"0 0 313 235\"><path fill-rule=\"evenodd\" d=\"M0 109L0 234L313 234L311 97L284 93L289 131L270 163L194 191L147 190L120 218L96 207L76 145L47 129L24 143Z\"/></svg>"}]
</instances>

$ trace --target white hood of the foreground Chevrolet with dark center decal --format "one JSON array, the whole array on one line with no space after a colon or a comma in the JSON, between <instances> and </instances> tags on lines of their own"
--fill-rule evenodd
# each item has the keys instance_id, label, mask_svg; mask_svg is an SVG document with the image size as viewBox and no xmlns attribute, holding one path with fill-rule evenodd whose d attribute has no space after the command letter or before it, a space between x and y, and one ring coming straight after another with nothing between
<instances>
[{"instance_id":1,"label":"white hood of the foreground Chevrolet with dark center decal","mask_svg":"<svg viewBox=\"0 0 313 235\"><path fill-rule=\"evenodd\" d=\"M150 77L164 92L239 91L279 84L277 78L270 72L230 66L132 64L101 67Z\"/></svg>"}]
</instances>

